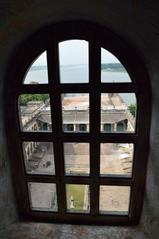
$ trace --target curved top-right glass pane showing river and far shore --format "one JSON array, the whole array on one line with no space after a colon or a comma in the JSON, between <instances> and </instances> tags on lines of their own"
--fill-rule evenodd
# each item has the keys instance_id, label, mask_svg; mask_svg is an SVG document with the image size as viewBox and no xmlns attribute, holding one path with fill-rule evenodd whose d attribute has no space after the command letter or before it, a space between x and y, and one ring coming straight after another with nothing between
<instances>
[{"instance_id":1,"label":"curved top-right glass pane showing river and far shore","mask_svg":"<svg viewBox=\"0 0 159 239\"><path fill-rule=\"evenodd\" d=\"M121 62L104 48L101 48L101 81L103 83L131 82Z\"/></svg>"}]
</instances>

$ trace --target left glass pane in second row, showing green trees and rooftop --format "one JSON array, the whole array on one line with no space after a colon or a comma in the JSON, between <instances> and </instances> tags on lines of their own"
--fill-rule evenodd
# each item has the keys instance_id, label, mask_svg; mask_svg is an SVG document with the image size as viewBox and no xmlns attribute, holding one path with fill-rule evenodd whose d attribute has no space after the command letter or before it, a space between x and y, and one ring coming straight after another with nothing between
<instances>
[{"instance_id":1,"label":"left glass pane in second row, showing green trees and rooftop","mask_svg":"<svg viewBox=\"0 0 159 239\"><path fill-rule=\"evenodd\" d=\"M20 95L19 117L22 131L51 131L52 123L49 95Z\"/></svg>"}]
</instances>

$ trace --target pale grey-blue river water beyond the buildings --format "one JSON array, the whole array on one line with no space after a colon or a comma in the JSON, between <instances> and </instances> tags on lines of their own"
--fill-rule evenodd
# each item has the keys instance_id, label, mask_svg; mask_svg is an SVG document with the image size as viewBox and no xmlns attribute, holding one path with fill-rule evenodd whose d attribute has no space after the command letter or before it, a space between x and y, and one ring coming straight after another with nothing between
<instances>
[{"instance_id":1,"label":"pale grey-blue river water beyond the buildings","mask_svg":"<svg viewBox=\"0 0 159 239\"><path fill-rule=\"evenodd\" d=\"M66 65L60 67L60 82L61 83L88 83L89 73L87 65ZM126 72L101 71L101 81L104 83L122 83L131 82L129 75ZM48 83L47 67L39 67L38 69L30 68L24 84L38 82L39 84ZM80 92L79 92L80 93ZM128 105L136 103L135 94L120 94L125 103Z\"/></svg>"}]
</instances>

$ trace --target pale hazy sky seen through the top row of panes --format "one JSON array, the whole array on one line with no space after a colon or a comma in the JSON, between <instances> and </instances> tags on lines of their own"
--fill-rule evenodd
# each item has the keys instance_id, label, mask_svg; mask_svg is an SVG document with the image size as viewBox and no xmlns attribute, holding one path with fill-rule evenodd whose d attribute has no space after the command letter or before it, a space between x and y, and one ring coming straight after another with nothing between
<instances>
[{"instance_id":1,"label":"pale hazy sky seen through the top row of panes","mask_svg":"<svg viewBox=\"0 0 159 239\"><path fill-rule=\"evenodd\" d=\"M88 64L88 43L84 40L69 40L59 44L61 65ZM102 49L102 63L119 62L110 52ZM43 53L34 65L46 65L46 53Z\"/></svg>"}]
</instances>

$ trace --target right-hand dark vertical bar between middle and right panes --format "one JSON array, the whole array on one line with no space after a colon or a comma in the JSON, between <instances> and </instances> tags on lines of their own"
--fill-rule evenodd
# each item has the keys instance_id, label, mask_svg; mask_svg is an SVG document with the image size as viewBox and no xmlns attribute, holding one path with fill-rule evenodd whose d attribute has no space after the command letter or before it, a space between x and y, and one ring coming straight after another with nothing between
<instances>
[{"instance_id":1,"label":"right-hand dark vertical bar between middle and right panes","mask_svg":"<svg viewBox=\"0 0 159 239\"><path fill-rule=\"evenodd\" d=\"M100 144L96 141L100 133L100 47L90 42L89 45L89 72L90 72L90 175L91 175L91 213L99 212L99 159Z\"/></svg>"}]
</instances>

